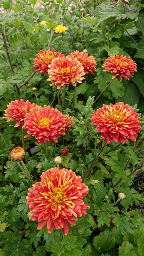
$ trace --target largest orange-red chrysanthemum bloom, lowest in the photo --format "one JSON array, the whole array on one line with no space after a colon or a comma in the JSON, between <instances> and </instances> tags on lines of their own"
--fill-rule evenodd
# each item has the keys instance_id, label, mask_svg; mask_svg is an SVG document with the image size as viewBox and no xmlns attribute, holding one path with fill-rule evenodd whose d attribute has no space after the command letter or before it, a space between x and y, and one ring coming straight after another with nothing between
<instances>
[{"instance_id":1,"label":"largest orange-red chrysanthemum bloom, lowest in the photo","mask_svg":"<svg viewBox=\"0 0 144 256\"><path fill-rule=\"evenodd\" d=\"M40 182L28 189L26 204L32 212L29 219L39 221L37 229L47 225L47 232L62 228L64 235L69 232L68 222L76 225L75 218L85 216L89 205L83 198L88 193L88 187L82 183L75 172L59 167L43 172Z\"/></svg>"}]
</instances>

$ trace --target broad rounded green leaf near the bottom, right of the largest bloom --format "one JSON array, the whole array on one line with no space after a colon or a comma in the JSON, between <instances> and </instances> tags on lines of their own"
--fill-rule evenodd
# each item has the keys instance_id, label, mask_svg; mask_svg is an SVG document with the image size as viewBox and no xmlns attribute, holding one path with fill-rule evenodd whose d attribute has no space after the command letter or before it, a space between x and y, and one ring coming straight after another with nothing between
<instances>
[{"instance_id":1,"label":"broad rounded green leaf near the bottom, right of the largest bloom","mask_svg":"<svg viewBox=\"0 0 144 256\"><path fill-rule=\"evenodd\" d=\"M94 237L94 247L95 249L103 253L104 251L110 251L116 244L115 236L109 230L104 230L104 232Z\"/></svg>"}]
</instances>

